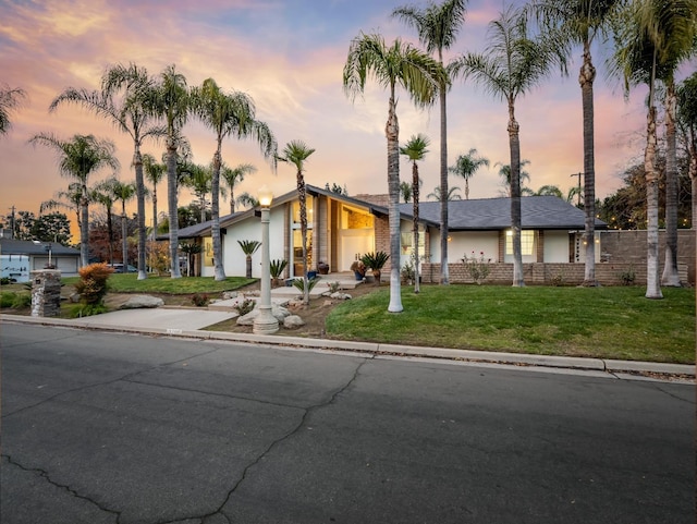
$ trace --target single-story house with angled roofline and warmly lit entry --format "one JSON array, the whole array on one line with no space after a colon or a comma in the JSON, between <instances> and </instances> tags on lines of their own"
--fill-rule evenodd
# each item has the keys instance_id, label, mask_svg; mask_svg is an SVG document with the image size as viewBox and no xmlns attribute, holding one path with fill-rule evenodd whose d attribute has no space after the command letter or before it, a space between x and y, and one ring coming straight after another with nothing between
<instances>
[{"instance_id":1,"label":"single-story house with angled roofline and warmly lit entry","mask_svg":"<svg viewBox=\"0 0 697 524\"><path fill-rule=\"evenodd\" d=\"M388 207L367 195L348 197L307 185L308 268L329 272L348 271L353 261L368 252L390 252ZM369 202L372 200L372 202ZM584 211L554 196L522 198L522 248L524 263L583 263ZM400 206L402 259L409 260L413 246L413 205ZM440 261L440 203L419 205L419 256ZM221 217L225 275L245 275L246 257L239 241L261 241L258 210L248 209ZM299 205L296 191L273 199L270 209L270 258L289 261L286 277L302 275ZM596 220L598 230L604 222ZM484 253L492 264L512 263L511 200L486 198L449 203L449 261L460 264L464 255ZM210 221L183 228L180 242L201 244L194 275L213 276ZM167 240L160 235L159 240ZM598 239L598 237L596 237ZM596 242L599 242L596 240ZM596 249L599 259L600 248ZM260 277L260 251L253 256L253 276ZM388 266L390 261L388 261ZM321 272L321 271L320 271ZM389 275L386 267L383 275Z\"/></svg>"}]
</instances>

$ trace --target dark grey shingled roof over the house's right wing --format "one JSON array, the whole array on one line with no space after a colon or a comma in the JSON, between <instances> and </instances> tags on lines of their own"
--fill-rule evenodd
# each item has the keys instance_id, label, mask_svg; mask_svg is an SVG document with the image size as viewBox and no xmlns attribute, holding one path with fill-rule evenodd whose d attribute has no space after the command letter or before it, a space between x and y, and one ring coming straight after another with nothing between
<instances>
[{"instance_id":1,"label":"dark grey shingled roof over the house's right wing","mask_svg":"<svg viewBox=\"0 0 697 524\"><path fill-rule=\"evenodd\" d=\"M400 204L400 212L414 216L413 204ZM440 202L419 203L419 219L431 227L440 227ZM525 196L521 198L521 224L524 229L583 230L585 212L557 196ZM451 231L505 230L511 228L511 198L480 198L450 200L448 229ZM596 229L607 223L596 219Z\"/></svg>"}]
</instances>

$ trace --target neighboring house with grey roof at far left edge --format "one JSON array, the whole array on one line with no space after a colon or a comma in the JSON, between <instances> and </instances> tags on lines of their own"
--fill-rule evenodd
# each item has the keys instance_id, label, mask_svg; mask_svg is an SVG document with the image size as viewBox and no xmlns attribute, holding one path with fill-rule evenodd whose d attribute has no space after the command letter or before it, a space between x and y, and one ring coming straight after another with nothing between
<instances>
[{"instance_id":1,"label":"neighboring house with grey roof at far left edge","mask_svg":"<svg viewBox=\"0 0 697 524\"><path fill-rule=\"evenodd\" d=\"M0 237L1 277L17 282L28 282L30 271L44 269L49 264L61 276L74 277L80 268L80 251L54 242L38 242Z\"/></svg>"}]
</instances>

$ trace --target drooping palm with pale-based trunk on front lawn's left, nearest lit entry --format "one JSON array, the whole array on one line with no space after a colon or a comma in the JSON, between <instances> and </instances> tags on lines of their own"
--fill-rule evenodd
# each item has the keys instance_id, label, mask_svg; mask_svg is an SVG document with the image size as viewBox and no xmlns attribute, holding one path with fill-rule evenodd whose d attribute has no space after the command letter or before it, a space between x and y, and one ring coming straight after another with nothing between
<instances>
[{"instance_id":1,"label":"drooping palm with pale-based trunk on front lawn's left, nearest lit entry","mask_svg":"<svg viewBox=\"0 0 697 524\"><path fill-rule=\"evenodd\" d=\"M344 92L351 97L363 93L368 75L372 74L389 90L388 122L388 188L390 222L390 304L391 313L402 312L400 294L400 125L396 118L396 86L402 86L417 107L431 105L439 86L448 83L440 63L409 44L396 39L387 47L380 35L354 38L344 64Z\"/></svg>"}]
</instances>

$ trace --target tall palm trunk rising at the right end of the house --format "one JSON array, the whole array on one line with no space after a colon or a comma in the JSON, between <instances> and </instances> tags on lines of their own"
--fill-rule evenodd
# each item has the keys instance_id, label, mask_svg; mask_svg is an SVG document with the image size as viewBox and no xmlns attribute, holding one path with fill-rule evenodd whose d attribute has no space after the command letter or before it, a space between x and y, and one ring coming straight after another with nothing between
<instances>
[{"instance_id":1,"label":"tall palm trunk rising at the right end of the house","mask_svg":"<svg viewBox=\"0 0 697 524\"><path fill-rule=\"evenodd\" d=\"M584 42L584 63L580 68L583 119L584 119L584 210L586 241L586 266L584 285L597 287L596 280L596 159L595 159L595 113L592 83L596 68L590 57L590 42Z\"/></svg>"}]
</instances>

